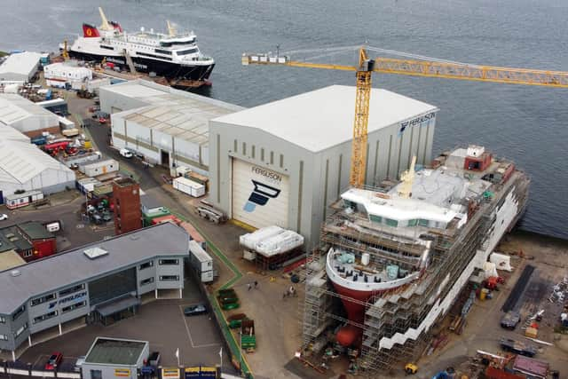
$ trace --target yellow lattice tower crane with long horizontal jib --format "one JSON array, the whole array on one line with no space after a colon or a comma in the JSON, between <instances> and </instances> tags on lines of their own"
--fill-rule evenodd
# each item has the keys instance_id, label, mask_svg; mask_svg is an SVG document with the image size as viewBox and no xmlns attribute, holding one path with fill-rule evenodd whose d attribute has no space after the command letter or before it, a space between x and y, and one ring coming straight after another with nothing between
<instances>
[{"instance_id":1,"label":"yellow lattice tower crane with long horizontal jib","mask_svg":"<svg viewBox=\"0 0 568 379\"><path fill-rule=\"evenodd\" d=\"M430 59L406 54L417 59L369 59L367 49L386 51L371 47L359 49L359 65L343 66L325 63L309 63L289 59L288 56L271 54L242 55L242 64L247 65L280 65L289 67L323 68L332 70L355 71L357 87L355 96L355 122L353 124L353 142L351 149L351 186L361 187L365 184L367 160L367 123L369 117L369 99L371 96L372 73L427 76L446 79L461 79L477 82L510 83L540 85L545 87L568 88L568 72L547 71L527 68L477 66L439 59ZM322 49L325 51L325 49ZM333 50L333 49L331 49ZM336 49L339 51L339 49Z\"/></svg>"}]
</instances>

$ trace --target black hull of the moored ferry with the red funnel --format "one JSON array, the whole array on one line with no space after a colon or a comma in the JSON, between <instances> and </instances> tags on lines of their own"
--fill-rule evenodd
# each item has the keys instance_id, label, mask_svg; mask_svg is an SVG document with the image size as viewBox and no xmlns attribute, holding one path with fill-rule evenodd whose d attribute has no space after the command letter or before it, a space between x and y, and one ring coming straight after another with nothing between
<instances>
[{"instance_id":1,"label":"black hull of the moored ferry with the red funnel","mask_svg":"<svg viewBox=\"0 0 568 379\"><path fill-rule=\"evenodd\" d=\"M122 56L105 56L97 54L88 54L78 51L69 51L69 56L75 59L94 60L101 62L106 59L107 62L113 63L114 66L128 70L126 59ZM154 59L146 59L141 57L132 57L134 66L138 72L151 73L154 72L158 76L164 76L168 79L184 79L192 81L206 81L215 67L215 63L210 65L193 65L186 66L177 63L163 62Z\"/></svg>"}]
</instances>

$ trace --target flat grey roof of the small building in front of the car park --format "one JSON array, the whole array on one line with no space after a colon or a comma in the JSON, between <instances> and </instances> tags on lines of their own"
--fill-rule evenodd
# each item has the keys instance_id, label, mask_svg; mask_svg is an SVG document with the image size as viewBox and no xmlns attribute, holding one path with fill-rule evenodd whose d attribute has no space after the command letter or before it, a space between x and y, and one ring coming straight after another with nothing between
<instances>
[{"instance_id":1,"label":"flat grey roof of the small building in front of the car park","mask_svg":"<svg viewBox=\"0 0 568 379\"><path fill-rule=\"evenodd\" d=\"M133 366L138 363L146 345L147 341L97 337L87 353L85 363Z\"/></svg>"}]
</instances>

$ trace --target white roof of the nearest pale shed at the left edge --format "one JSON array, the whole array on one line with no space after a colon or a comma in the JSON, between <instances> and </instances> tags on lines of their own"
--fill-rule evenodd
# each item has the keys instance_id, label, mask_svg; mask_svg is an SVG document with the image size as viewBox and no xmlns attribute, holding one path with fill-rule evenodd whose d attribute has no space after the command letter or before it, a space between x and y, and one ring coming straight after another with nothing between
<instances>
[{"instance_id":1,"label":"white roof of the nearest pale shed at the left edge","mask_svg":"<svg viewBox=\"0 0 568 379\"><path fill-rule=\"evenodd\" d=\"M25 184L44 170L58 170L75 178L75 172L36 145L0 139L0 183Z\"/></svg>"}]
</instances>

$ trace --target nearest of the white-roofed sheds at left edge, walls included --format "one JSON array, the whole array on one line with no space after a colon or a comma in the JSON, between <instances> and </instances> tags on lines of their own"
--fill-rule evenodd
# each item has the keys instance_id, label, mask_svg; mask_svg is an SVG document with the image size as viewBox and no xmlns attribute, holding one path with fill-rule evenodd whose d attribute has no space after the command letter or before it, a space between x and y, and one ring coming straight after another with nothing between
<instances>
[{"instance_id":1,"label":"nearest of the white-roofed sheds at left edge, walls included","mask_svg":"<svg viewBox=\"0 0 568 379\"><path fill-rule=\"evenodd\" d=\"M18 190L56 193L75 186L75 172L36 145L0 139L0 203Z\"/></svg>"}]
</instances>

